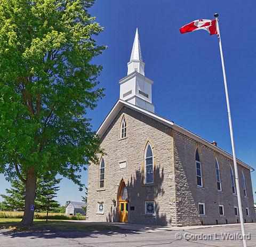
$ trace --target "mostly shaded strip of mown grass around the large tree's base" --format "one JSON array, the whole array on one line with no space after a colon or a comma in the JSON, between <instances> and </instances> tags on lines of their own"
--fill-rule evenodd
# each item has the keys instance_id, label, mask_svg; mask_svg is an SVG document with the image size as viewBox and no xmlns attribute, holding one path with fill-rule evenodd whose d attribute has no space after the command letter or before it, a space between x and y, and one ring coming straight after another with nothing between
<instances>
[{"instance_id":1,"label":"mostly shaded strip of mown grass around the large tree's base","mask_svg":"<svg viewBox=\"0 0 256 247\"><path fill-rule=\"evenodd\" d=\"M18 224L21 219L5 219L0 218L0 229L9 229L15 231L29 230L33 232L34 230L61 230L61 231L84 231L84 230L110 230L117 229L119 226L113 225L91 225L84 223L74 223L74 221L68 220L48 220L46 224L43 219L35 219L34 226L31 228L19 227Z\"/></svg>"}]
</instances>

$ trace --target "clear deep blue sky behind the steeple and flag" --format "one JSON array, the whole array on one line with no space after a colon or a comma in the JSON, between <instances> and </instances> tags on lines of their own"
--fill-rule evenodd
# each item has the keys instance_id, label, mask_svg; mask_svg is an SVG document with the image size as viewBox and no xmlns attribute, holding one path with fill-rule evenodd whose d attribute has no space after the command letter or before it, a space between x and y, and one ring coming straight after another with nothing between
<instances>
[{"instance_id":1,"label":"clear deep blue sky behind the steeple and flag","mask_svg":"<svg viewBox=\"0 0 256 247\"><path fill-rule=\"evenodd\" d=\"M119 97L118 80L127 74L138 27L145 75L155 81L155 112L231 153L218 38L203 30L179 33L184 24L214 19L218 12L237 158L256 169L255 9L253 0L98 0L90 13L105 27L97 40L108 49L94 60L103 65L99 80L106 96L89 114L93 129ZM9 184L2 175L0 181L4 193ZM87 183L87 172L83 182ZM252 183L254 192L256 171ZM80 201L81 195L73 182L62 179L60 203Z\"/></svg>"}]
</instances>

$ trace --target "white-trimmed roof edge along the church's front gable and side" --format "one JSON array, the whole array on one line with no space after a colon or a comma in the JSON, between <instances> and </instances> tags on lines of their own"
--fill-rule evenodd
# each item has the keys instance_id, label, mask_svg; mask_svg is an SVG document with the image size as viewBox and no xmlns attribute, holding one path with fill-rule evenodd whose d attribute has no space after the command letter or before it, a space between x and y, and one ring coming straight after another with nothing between
<instances>
[{"instance_id":1,"label":"white-trimmed roof edge along the church's front gable and side","mask_svg":"<svg viewBox=\"0 0 256 247\"><path fill-rule=\"evenodd\" d=\"M158 122L162 122L164 125L169 126L171 128L173 128L174 130L179 131L182 134L185 134L187 136L189 136L190 138L195 139L197 142L200 142L206 146L209 146L211 149L223 154L224 156L226 156L227 158L233 160L233 156L226 152L223 149L220 149L220 147L213 145L211 142L206 141L204 138L192 133L191 131L177 125L176 123L174 123L173 121L164 118L162 116L159 116L156 113L147 111L145 109L140 108L137 105L133 105L129 102L123 101L123 100L118 100L116 102L116 104L113 106L113 108L111 109L111 111L108 113L108 116L105 118L105 120L101 123L99 129L97 130L97 135L102 136L105 131L107 130L107 128L109 127L110 123L114 120L114 118L116 117L116 115L118 114L118 112L123 108L123 106L126 106L127 108L130 108L134 111L140 112L146 116L148 116L149 118L155 119ZM241 165L246 167L249 170L254 171L254 168L252 168L251 166L249 166L248 164L244 163L243 161L237 159L237 162Z\"/></svg>"}]
</instances>

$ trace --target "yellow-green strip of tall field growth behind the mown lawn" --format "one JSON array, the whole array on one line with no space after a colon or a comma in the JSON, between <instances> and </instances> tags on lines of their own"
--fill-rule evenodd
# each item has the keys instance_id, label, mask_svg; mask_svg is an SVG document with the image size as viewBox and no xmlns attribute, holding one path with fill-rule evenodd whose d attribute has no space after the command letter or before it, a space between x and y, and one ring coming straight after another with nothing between
<instances>
[{"instance_id":1,"label":"yellow-green strip of tall field growth behind the mown lawn","mask_svg":"<svg viewBox=\"0 0 256 247\"><path fill-rule=\"evenodd\" d=\"M0 212L0 218L5 219L22 219L23 212ZM46 212L44 213L38 213L35 212L34 219L46 219ZM69 216L65 215L63 213L49 213L48 219L65 219L65 220L85 220L85 216L81 215L75 215L75 216Z\"/></svg>"}]
</instances>

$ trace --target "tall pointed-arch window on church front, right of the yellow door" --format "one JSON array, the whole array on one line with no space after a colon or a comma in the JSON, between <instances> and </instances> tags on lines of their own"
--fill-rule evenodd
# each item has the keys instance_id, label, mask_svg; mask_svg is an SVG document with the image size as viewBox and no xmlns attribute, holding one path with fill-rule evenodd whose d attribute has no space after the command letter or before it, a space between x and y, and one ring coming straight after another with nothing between
<instances>
[{"instance_id":1,"label":"tall pointed-arch window on church front, right of the yellow door","mask_svg":"<svg viewBox=\"0 0 256 247\"><path fill-rule=\"evenodd\" d=\"M154 183L154 161L153 151L150 143L148 142L145 150L145 184Z\"/></svg>"}]
</instances>

